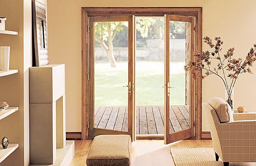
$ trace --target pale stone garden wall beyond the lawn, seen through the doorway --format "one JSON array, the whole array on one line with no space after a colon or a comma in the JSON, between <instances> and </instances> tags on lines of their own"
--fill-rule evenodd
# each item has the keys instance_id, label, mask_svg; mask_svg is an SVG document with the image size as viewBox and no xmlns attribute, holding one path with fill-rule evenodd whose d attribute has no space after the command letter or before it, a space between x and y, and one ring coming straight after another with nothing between
<instances>
[{"instance_id":1,"label":"pale stone garden wall beyond the lawn, seen through the doorway","mask_svg":"<svg viewBox=\"0 0 256 166\"><path fill-rule=\"evenodd\" d=\"M184 61L185 39L170 40L170 55L172 61ZM94 48L95 59L100 62L108 62L107 54L101 47ZM114 56L117 62L128 60L128 48L114 47ZM146 47L136 48L137 61L164 61L164 41L162 39L147 40Z\"/></svg>"}]
</instances>

